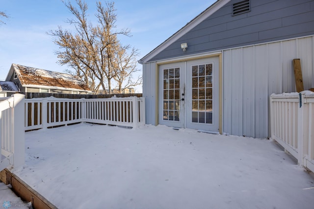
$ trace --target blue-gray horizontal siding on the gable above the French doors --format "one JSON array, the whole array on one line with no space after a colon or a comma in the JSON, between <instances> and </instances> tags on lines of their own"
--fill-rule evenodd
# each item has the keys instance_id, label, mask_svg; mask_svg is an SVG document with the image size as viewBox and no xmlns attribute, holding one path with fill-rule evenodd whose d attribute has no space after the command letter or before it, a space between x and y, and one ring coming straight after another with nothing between
<instances>
[{"instance_id":1,"label":"blue-gray horizontal siding on the gable above the French doors","mask_svg":"<svg viewBox=\"0 0 314 209\"><path fill-rule=\"evenodd\" d=\"M231 0L150 61L314 34L314 0L251 0L250 12L232 16L238 1Z\"/></svg>"}]
</instances>

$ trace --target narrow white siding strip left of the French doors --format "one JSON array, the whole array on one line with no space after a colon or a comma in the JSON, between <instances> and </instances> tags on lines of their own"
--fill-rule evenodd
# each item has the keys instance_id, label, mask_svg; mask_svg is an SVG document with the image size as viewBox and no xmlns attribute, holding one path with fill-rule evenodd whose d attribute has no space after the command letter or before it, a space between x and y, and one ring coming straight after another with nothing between
<instances>
[{"instance_id":1,"label":"narrow white siding strip left of the French doors","mask_svg":"<svg viewBox=\"0 0 314 209\"><path fill-rule=\"evenodd\" d=\"M156 63L143 64L143 97L145 98L146 124L155 124L156 111Z\"/></svg>"}]
</instances>

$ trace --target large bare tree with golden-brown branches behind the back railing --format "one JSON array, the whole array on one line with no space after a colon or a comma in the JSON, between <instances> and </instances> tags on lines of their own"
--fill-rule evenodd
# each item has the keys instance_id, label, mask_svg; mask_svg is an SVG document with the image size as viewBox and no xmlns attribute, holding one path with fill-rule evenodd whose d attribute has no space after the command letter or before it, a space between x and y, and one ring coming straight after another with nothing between
<instances>
[{"instance_id":1,"label":"large bare tree with golden-brown branches behind the back railing","mask_svg":"<svg viewBox=\"0 0 314 209\"><path fill-rule=\"evenodd\" d=\"M113 31L117 21L114 3L96 2L97 25L87 21L88 6L83 0L76 0L78 7L70 1L63 1L75 19L68 19L67 23L75 26L75 32L63 29L51 30L48 34L55 37L54 43L60 51L56 54L59 64L74 68L92 90L100 86L111 92L111 81L116 74L111 65L115 52L115 45L119 43L118 34L129 36L129 29ZM96 80L99 82L97 84Z\"/></svg>"}]
</instances>

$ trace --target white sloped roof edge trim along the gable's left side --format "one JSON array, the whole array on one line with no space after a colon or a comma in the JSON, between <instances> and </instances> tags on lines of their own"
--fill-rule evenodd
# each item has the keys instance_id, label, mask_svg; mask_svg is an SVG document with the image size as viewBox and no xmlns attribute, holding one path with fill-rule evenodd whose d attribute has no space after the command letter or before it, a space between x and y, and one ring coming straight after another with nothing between
<instances>
[{"instance_id":1,"label":"white sloped roof edge trim along the gable's left side","mask_svg":"<svg viewBox=\"0 0 314 209\"><path fill-rule=\"evenodd\" d=\"M214 2L211 6L209 6L205 11L203 11L201 14L196 16L193 20L191 20L189 23L187 23L185 26L183 26L179 31L177 31L175 34L170 36L167 40L165 40L163 43L161 43L159 46L157 46L152 52L149 52L146 54L143 58L138 60L138 63L143 64L147 61L149 61L151 58L153 58L155 55L157 55L162 50L166 49L168 46L170 46L172 43L177 41L179 38L181 38L186 32L203 22L206 18L208 18L210 15L212 15L214 12L216 12L218 9L223 7L226 3L228 3L230 0L217 0Z\"/></svg>"}]
</instances>

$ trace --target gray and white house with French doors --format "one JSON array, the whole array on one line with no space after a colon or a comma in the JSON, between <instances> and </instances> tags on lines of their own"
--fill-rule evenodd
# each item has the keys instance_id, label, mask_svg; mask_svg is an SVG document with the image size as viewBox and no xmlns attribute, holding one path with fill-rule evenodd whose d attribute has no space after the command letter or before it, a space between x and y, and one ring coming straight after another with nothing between
<instances>
[{"instance_id":1,"label":"gray and white house with French doors","mask_svg":"<svg viewBox=\"0 0 314 209\"><path fill-rule=\"evenodd\" d=\"M295 58L314 87L314 0L217 0L139 60L146 123L268 137Z\"/></svg>"}]
</instances>

